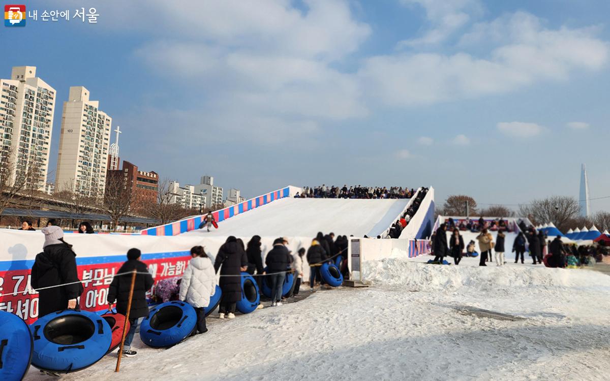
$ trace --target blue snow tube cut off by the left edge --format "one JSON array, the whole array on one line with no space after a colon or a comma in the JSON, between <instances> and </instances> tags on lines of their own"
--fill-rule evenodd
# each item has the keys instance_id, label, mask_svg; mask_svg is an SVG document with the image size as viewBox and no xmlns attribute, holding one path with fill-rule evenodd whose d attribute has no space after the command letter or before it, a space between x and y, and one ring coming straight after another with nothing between
<instances>
[{"instance_id":1,"label":"blue snow tube cut off by the left edge","mask_svg":"<svg viewBox=\"0 0 610 381\"><path fill-rule=\"evenodd\" d=\"M26 322L12 313L0 311L0 379L19 381L32 362L32 333Z\"/></svg>"}]
</instances>

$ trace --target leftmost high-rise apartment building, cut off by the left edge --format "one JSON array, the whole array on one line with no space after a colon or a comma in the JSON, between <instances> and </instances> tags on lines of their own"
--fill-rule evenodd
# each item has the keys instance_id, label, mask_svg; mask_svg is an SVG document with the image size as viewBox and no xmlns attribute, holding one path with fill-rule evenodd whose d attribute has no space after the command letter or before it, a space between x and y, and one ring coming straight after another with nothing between
<instances>
[{"instance_id":1,"label":"leftmost high-rise apartment building, cut off by the left edge","mask_svg":"<svg viewBox=\"0 0 610 381\"><path fill-rule=\"evenodd\" d=\"M35 66L15 66L10 79L0 79L0 151L10 152L11 182L44 190L55 102Z\"/></svg>"}]
</instances>

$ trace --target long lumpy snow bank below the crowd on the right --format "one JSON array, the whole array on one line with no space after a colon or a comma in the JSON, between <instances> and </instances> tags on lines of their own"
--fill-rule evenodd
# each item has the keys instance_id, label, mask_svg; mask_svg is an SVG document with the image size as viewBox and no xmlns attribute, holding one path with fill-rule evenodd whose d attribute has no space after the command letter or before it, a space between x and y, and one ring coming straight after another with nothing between
<instances>
[{"instance_id":1,"label":"long lumpy snow bank below the crowd on the right","mask_svg":"<svg viewBox=\"0 0 610 381\"><path fill-rule=\"evenodd\" d=\"M541 291L562 287L610 292L610 277L581 269L439 266L396 258L367 261L363 266L366 282L402 286L412 291L458 290L462 287L473 290L535 288Z\"/></svg>"}]
</instances>

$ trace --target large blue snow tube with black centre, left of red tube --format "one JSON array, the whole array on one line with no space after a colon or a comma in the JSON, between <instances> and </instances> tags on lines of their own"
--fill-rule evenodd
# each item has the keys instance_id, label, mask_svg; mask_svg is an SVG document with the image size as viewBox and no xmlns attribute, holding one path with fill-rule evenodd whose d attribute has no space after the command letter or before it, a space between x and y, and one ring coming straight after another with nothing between
<instances>
[{"instance_id":1,"label":"large blue snow tube with black centre, left of red tube","mask_svg":"<svg viewBox=\"0 0 610 381\"><path fill-rule=\"evenodd\" d=\"M49 313L30 326L34 336L32 365L54 372L74 372L104 357L112 330L96 313L64 310Z\"/></svg>"}]
</instances>

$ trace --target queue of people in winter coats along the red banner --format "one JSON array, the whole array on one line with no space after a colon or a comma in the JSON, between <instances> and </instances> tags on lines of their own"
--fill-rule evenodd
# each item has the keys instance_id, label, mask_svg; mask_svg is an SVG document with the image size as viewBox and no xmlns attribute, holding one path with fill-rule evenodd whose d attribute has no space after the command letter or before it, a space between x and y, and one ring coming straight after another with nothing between
<instances>
[{"instance_id":1,"label":"queue of people in winter coats along the red banner","mask_svg":"<svg viewBox=\"0 0 610 381\"><path fill-rule=\"evenodd\" d=\"M34 290L38 290L39 318L66 308L76 308L78 298L84 291L77 272L76 253L72 245L63 239L63 230L59 226L49 225L41 229L41 232L45 235L43 252L36 255L30 277L30 285ZM311 290L316 283L323 285L320 274L323 263L334 262L339 256L342 256L340 271L345 277L349 276L346 258L348 238L345 235L335 240L333 233L323 235L320 232L307 250L301 247L294 255L289 251L287 244L287 238L274 240L273 248L265 255L266 267L263 266L264 256L260 237L257 235L252 237L247 247L241 239L228 237L218 250L213 264L203 246L192 247L191 260L178 284L176 299L185 301L195 308L196 332L207 332L204 309L215 293L218 272L220 272L218 285L222 290L218 317L221 319L235 317L236 303L242 299L240 278L242 271L248 274L256 272L260 275L256 277L259 290L262 290L261 276L270 277L273 307L282 305L282 300L285 299L285 296L282 296L282 284L287 272L293 272L297 277L292 295L287 297L299 297L306 265L310 267ZM134 269L137 271L129 315L131 328L126 334L123 347L123 355L126 357L136 355L131 349L131 344L138 325L148 316L146 293L154 283L146 264L140 261L141 255L139 249L129 249L127 261L117 272L117 274L129 274ZM107 293L109 307L116 303L117 312L125 315L130 290L131 276L115 276ZM262 304L259 308L262 308Z\"/></svg>"}]
</instances>

